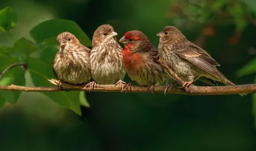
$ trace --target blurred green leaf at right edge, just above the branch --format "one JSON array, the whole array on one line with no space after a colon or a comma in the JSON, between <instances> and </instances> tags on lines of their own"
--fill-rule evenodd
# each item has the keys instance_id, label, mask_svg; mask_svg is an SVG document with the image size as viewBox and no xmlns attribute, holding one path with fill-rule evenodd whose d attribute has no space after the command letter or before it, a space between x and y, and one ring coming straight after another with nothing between
<instances>
[{"instance_id":1,"label":"blurred green leaf at right edge, just above the branch","mask_svg":"<svg viewBox=\"0 0 256 151\"><path fill-rule=\"evenodd\" d=\"M243 77L248 74L253 74L255 72L256 72L256 59L244 65L244 67L239 69L236 74L238 77Z\"/></svg>"}]
</instances>

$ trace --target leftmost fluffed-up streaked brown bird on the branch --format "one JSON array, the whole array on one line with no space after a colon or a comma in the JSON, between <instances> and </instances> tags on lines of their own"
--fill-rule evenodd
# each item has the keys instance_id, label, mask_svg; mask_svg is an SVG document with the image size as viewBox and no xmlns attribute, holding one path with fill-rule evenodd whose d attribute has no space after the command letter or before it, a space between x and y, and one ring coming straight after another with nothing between
<instances>
[{"instance_id":1,"label":"leftmost fluffed-up streaked brown bird on the branch","mask_svg":"<svg viewBox=\"0 0 256 151\"><path fill-rule=\"evenodd\" d=\"M90 49L69 32L60 33L57 40L60 50L52 62L52 71L60 80L60 87L62 82L82 84L90 81Z\"/></svg>"}]
</instances>

